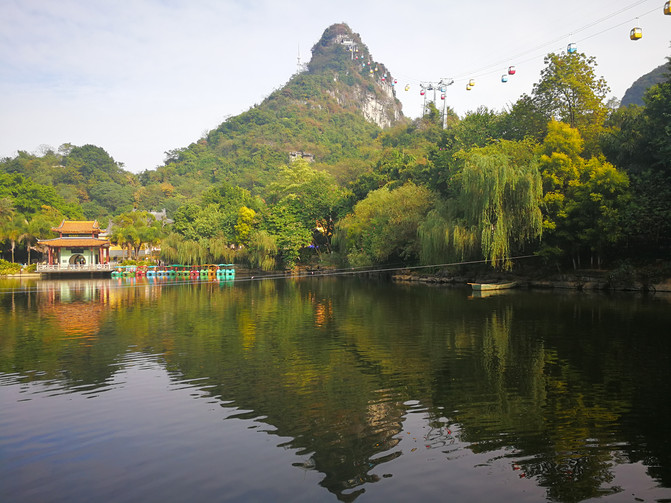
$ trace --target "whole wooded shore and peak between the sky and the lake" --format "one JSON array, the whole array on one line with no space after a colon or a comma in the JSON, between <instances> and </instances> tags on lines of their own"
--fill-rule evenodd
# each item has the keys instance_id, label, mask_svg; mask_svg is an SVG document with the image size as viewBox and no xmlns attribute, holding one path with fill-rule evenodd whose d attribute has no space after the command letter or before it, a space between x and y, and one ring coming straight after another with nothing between
<instances>
[{"instance_id":1,"label":"whole wooded shore and peak between the sky and the lake","mask_svg":"<svg viewBox=\"0 0 671 503\"><path fill-rule=\"evenodd\" d=\"M448 108L444 125L429 104L410 121L388 70L334 25L307 71L155 170L135 176L94 145L0 160L2 251L23 259L59 219L95 218L112 222L128 256L160 242L166 261L264 270L334 249L357 266L661 256L671 246L671 78L644 106L613 109L595 68L585 54L549 54L507 110ZM389 127L366 118L371 103L385 104L378 119ZM172 226L147 213L163 208Z\"/></svg>"}]
</instances>

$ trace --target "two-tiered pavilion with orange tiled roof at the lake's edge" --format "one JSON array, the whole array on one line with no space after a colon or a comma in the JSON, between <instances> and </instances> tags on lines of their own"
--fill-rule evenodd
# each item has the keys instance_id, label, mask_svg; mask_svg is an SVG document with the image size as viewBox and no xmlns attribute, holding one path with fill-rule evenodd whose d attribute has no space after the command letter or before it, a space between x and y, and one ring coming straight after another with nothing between
<instances>
[{"instance_id":1,"label":"two-tiered pavilion with orange tiled roof at the lake's edge","mask_svg":"<svg viewBox=\"0 0 671 503\"><path fill-rule=\"evenodd\" d=\"M110 242L100 238L97 220L63 220L54 239L38 241L47 248L47 264L61 269L91 268L109 263Z\"/></svg>"}]
</instances>

